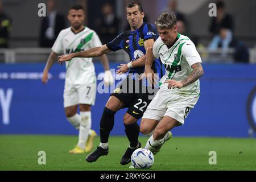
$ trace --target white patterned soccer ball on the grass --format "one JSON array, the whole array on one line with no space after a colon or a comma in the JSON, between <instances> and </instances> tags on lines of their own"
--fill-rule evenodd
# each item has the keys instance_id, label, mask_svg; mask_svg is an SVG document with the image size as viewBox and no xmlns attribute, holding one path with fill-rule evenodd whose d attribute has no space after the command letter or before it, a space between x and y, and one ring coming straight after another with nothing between
<instances>
[{"instance_id":1,"label":"white patterned soccer ball on the grass","mask_svg":"<svg viewBox=\"0 0 256 182\"><path fill-rule=\"evenodd\" d=\"M148 169L154 163L154 155L147 148L138 148L131 155L131 163L136 169Z\"/></svg>"}]
</instances>

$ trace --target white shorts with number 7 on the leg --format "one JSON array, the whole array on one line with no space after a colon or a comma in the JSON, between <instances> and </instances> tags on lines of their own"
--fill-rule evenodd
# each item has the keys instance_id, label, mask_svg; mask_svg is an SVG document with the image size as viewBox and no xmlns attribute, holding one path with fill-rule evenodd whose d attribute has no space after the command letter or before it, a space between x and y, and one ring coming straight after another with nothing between
<instances>
[{"instance_id":1,"label":"white shorts with number 7 on the leg","mask_svg":"<svg viewBox=\"0 0 256 182\"><path fill-rule=\"evenodd\" d=\"M96 82L92 84L74 85L65 82L64 107L78 104L94 105L96 98Z\"/></svg>"}]
</instances>

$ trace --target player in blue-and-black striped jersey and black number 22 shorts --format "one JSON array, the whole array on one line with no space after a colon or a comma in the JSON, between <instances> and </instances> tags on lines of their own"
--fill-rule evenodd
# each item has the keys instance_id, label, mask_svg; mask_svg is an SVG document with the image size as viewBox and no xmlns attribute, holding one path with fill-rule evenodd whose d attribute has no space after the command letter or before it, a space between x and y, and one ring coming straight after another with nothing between
<instances>
[{"instance_id":1,"label":"player in blue-and-black striped jersey and black number 22 shorts","mask_svg":"<svg viewBox=\"0 0 256 182\"><path fill-rule=\"evenodd\" d=\"M144 72L144 64L146 49L152 47L155 40L158 38L156 27L150 23L143 23L144 11L140 3L131 2L126 7L127 20L130 24L130 31L123 32L118 35L112 42L102 46L90 49L88 51L73 53L71 55L60 56L59 61L69 61L73 57L95 57L101 56L104 53L123 49L130 56L130 63L121 64L117 73L125 73L129 71L129 75L138 75ZM141 58L140 58L141 57ZM73 61L73 60L71 60ZM160 73L161 64L156 60L152 65L154 72ZM138 86L137 86L138 85ZM129 86L129 88L127 88ZM133 90L132 93L123 92L125 90ZM147 90L141 92L143 88ZM135 92L139 90L139 92ZM120 163L128 164L131 161L131 154L141 147L138 141L139 125L137 123L150 103L150 93L147 85L143 85L139 81L139 77L128 76L120 88L115 89L115 92L110 96L105 109L103 111L100 123L101 143L97 149L86 157L87 162L95 162L100 156L107 155L109 152L108 140L110 131L114 126L115 113L125 107L128 108L127 113L123 117L125 124L125 132L130 141L125 154L122 156Z\"/></svg>"}]
</instances>

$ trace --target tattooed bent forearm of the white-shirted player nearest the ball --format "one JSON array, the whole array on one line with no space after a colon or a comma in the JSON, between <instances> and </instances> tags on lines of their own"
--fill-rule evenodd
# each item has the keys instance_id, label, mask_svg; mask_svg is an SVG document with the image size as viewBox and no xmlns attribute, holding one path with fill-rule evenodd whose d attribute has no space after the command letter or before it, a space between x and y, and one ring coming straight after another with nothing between
<instances>
[{"instance_id":1,"label":"tattooed bent forearm of the white-shirted player nearest the ball","mask_svg":"<svg viewBox=\"0 0 256 182\"><path fill-rule=\"evenodd\" d=\"M164 83L169 83L168 88L183 88L184 86L187 86L189 84L192 84L196 80L198 80L201 76L204 75L204 69L201 65L201 63L195 63L191 65L191 68L193 69L192 73L185 78L182 81L175 81L175 80L166 80Z\"/></svg>"}]
</instances>

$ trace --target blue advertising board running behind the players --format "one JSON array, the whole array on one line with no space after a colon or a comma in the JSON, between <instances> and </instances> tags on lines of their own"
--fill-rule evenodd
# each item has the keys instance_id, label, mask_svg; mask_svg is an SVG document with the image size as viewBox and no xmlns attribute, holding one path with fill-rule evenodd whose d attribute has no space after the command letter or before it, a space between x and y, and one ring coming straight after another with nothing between
<instances>
[{"instance_id":1,"label":"blue advertising board running behind the players","mask_svg":"<svg viewBox=\"0 0 256 182\"><path fill-rule=\"evenodd\" d=\"M118 64L110 64L116 68ZM102 81L103 68L95 65L98 84ZM40 81L44 64L1 65L1 134L76 134L66 121L63 109L65 68L55 65L47 86ZM204 65L201 78L200 100L189 114L185 125L174 129L177 136L248 137L250 132L247 115L249 95L255 88L256 65ZM119 81L116 81L116 84ZM111 89L107 88L109 92ZM113 88L112 88L113 92ZM92 128L99 131L102 109L108 93L97 92L96 105L92 108ZM255 111L249 106L250 113ZM3 106L6 112L3 112ZM10 109L8 109L8 106ZM254 110L253 110L254 109ZM115 115L112 135L125 135L122 123L126 109ZM255 114L253 115L255 121ZM255 135L254 135L255 136Z\"/></svg>"}]
</instances>

